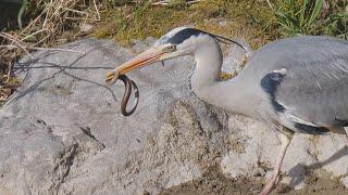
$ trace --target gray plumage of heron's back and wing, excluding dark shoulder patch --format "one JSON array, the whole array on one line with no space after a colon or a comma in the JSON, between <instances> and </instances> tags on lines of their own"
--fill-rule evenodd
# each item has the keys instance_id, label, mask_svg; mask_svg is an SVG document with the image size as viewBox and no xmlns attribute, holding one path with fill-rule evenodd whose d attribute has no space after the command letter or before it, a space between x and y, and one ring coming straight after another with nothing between
<instances>
[{"instance_id":1,"label":"gray plumage of heron's back and wing, excluding dark shoulder patch","mask_svg":"<svg viewBox=\"0 0 348 195\"><path fill-rule=\"evenodd\" d=\"M321 127L347 125L348 41L328 37L286 39L264 47L252 61L261 62L253 68L261 78L286 69L274 101L288 115Z\"/></svg>"}]
</instances>

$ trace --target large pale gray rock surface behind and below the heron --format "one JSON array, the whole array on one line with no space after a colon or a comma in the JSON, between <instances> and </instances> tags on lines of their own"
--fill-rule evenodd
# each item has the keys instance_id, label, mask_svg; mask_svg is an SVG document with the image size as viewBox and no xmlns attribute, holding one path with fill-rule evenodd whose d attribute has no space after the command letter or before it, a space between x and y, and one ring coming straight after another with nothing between
<instances>
[{"instance_id":1,"label":"large pale gray rock surface behind and below the heron","mask_svg":"<svg viewBox=\"0 0 348 195\"><path fill-rule=\"evenodd\" d=\"M124 49L88 39L62 47L85 54L48 51L21 60L23 86L0 109L0 194L157 194L216 165L228 177L264 177L279 148L276 131L196 98L188 88L191 57L129 74L140 102L134 115L122 116L124 87L107 87L104 74L152 42ZM224 69L243 58L234 51ZM304 165L346 176L345 141L296 135L284 181L302 186Z\"/></svg>"}]
</instances>

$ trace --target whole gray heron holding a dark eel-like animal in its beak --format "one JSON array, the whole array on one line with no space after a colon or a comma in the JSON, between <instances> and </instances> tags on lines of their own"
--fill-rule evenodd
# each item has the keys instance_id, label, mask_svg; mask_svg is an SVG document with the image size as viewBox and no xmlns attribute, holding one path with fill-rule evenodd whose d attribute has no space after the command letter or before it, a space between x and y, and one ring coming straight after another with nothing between
<instances>
[{"instance_id":1,"label":"whole gray heron holding a dark eel-like animal in its beak","mask_svg":"<svg viewBox=\"0 0 348 195\"><path fill-rule=\"evenodd\" d=\"M273 177L261 192L269 194L278 182L296 132L346 134L348 41L322 36L277 40L257 50L244 69L226 81L220 79L223 56L219 42L234 41L195 28L175 28L149 50L108 73L107 82L114 83L120 76L154 62L192 55L196 68L190 82L198 98L270 122L281 132Z\"/></svg>"}]
</instances>

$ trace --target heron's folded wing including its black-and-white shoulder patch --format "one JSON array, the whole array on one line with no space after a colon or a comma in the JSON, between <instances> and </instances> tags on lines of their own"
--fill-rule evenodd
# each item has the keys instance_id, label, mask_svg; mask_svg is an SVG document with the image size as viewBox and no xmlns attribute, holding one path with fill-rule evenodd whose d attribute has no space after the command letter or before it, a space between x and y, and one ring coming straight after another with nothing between
<instances>
[{"instance_id":1,"label":"heron's folded wing including its black-and-white shoulder patch","mask_svg":"<svg viewBox=\"0 0 348 195\"><path fill-rule=\"evenodd\" d=\"M297 129L348 125L348 43L336 47L303 50L306 57L278 61L261 79L273 108Z\"/></svg>"}]
</instances>

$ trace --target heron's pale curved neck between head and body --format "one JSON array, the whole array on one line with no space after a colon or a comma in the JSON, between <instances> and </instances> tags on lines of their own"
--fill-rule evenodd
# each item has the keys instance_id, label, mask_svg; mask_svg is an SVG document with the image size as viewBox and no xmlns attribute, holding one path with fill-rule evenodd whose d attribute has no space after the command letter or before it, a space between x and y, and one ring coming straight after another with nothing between
<instances>
[{"instance_id":1,"label":"heron's pale curved neck between head and body","mask_svg":"<svg viewBox=\"0 0 348 195\"><path fill-rule=\"evenodd\" d=\"M206 46L204 46L206 44ZM191 77L192 91L203 101L244 114L240 107L243 82L238 77L228 81L221 80L223 63L222 51L215 42L203 43L195 52L196 69Z\"/></svg>"}]
</instances>

